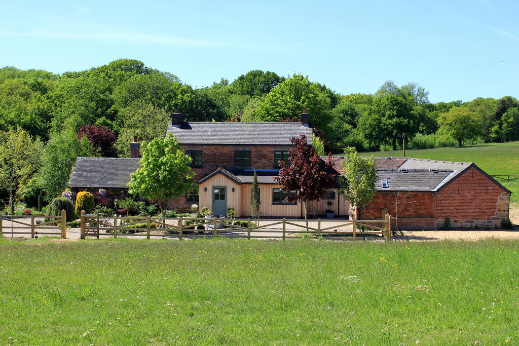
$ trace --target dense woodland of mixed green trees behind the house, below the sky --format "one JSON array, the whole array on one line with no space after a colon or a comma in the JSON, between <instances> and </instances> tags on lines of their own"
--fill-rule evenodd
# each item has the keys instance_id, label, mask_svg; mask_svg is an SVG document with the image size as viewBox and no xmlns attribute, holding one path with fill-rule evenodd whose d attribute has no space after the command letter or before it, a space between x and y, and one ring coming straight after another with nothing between
<instances>
[{"instance_id":1,"label":"dense woodland of mixed green trees behind the house, below the sky","mask_svg":"<svg viewBox=\"0 0 519 346\"><path fill-rule=\"evenodd\" d=\"M298 121L307 109L312 143L324 154L350 146L398 149L403 136L414 148L516 141L518 108L511 96L431 103L424 87L392 81L373 94L342 95L301 74L259 70L193 88L131 59L61 75L6 66L0 68L0 193L51 200L66 187L76 157L129 157L134 135L143 148L165 136L174 109L188 121ZM20 174L7 169L17 158L28 158L17 162Z\"/></svg>"}]
</instances>

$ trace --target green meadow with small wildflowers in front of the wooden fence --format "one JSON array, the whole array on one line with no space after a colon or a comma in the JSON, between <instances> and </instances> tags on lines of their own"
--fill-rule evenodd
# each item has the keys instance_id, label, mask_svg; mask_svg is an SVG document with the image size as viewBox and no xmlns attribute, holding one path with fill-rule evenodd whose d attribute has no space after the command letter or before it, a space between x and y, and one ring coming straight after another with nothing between
<instances>
[{"instance_id":1,"label":"green meadow with small wildflowers in front of the wooden fence","mask_svg":"<svg viewBox=\"0 0 519 346\"><path fill-rule=\"evenodd\" d=\"M0 343L515 343L518 245L0 239Z\"/></svg>"}]
</instances>

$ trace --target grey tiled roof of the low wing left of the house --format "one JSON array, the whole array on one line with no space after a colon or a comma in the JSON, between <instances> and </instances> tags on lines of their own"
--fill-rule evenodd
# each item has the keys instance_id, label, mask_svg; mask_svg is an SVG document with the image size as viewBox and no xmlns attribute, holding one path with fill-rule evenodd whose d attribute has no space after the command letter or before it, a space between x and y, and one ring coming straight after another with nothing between
<instances>
[{"instance_id":1,"label":"grey tiled roof of the low wing left of the house","mask_svg":"<svg viewBox=\"0 0 519 346\"><path fill-rule=\"evenodd\" d=\"M70 177L70 187L128 188L130 174L140 159L78 157Z\"/></svg>"}]
</instances>

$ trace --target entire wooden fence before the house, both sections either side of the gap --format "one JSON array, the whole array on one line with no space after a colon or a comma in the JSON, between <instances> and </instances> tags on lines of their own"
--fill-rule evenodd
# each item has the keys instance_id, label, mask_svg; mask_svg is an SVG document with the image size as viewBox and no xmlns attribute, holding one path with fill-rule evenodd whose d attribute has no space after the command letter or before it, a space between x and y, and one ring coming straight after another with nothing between
<instances>
[{"instance_id":1,"label":"entire wooden fence before the house, both sections either side of the gap","mask_svg":"<svg viewBox=\"0 0 519 346\"><path fill-rule=\"evenodd\" d=\"M42 220L45 218L46 220ZM245 225L244 225L245 224ZM132 227L133 226L133 227ZM288 228L291 226L291 229ZM0 235L11 237L30 235L60 236L66 238L66 212L59 216L3 215L0 217ZM294 235L310 234L322 239L357 240L391 239L391 216L383 220L340 219L223 219L223 218L168 218L150 216L110 216L80 214L80 238L108 236L178 238L274 238L287 239Z\"/></svg>"}]
</instances>

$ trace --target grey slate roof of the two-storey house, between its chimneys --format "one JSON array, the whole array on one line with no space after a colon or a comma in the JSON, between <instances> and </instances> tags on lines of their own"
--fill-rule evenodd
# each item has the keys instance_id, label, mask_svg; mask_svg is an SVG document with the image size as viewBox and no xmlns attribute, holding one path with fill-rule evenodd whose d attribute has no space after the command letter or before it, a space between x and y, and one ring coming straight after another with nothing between
<instances>
[{"instance_id":1,"label":"grey slate roof of the two-storey house, between its chimneys","mask_svg":"<svg viewBox=\"0 0 519 346\"><path fill-rule=\"evenodd\" d=\"M301 122L184 122L181 128L170 122L169 133L181 144L292 145L292 137L312 137Z\"/></svg>"}]
</instances>

